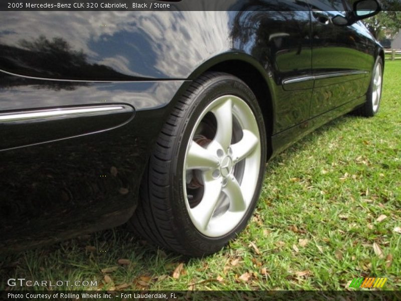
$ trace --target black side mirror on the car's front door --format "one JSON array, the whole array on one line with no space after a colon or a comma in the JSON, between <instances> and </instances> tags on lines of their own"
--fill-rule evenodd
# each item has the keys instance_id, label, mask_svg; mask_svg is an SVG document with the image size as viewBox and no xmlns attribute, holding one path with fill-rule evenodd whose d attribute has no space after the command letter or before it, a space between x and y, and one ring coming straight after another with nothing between
<instances>
[{"instance_id":1,"label":"black side mirror on the car's front door","mask_svg":"<svg viewBox=\"0 0 401 301\"><path fill-rule=\"evenodd\" d=\"M381 11L381 5L377 0L358 0L353 5L353 11L346 16L337 15L331 19L333 24L339 26L352 25L355 22L377 15Z\"/></svg>"}]
</instances>

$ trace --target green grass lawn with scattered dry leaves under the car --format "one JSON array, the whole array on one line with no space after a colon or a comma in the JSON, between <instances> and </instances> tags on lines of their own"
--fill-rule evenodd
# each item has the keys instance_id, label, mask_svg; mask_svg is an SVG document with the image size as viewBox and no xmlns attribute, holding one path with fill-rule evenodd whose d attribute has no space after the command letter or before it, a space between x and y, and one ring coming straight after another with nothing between
<instances>
[{"instance_id":1,"label":"green grass lawn with scattered dry leaves under the car","mask_svg":"<svg viewBox=\"0 0 401 301\"><path fill-rule=\"evenodd\" d=\"M379 114L338 118L269 162L252 221L221 252L185 259L120 227L0 260L0 289L11 277L107 290L344 289L358 276L401 289L401 61L385 63Z\"/></svg>"}]
</instances>

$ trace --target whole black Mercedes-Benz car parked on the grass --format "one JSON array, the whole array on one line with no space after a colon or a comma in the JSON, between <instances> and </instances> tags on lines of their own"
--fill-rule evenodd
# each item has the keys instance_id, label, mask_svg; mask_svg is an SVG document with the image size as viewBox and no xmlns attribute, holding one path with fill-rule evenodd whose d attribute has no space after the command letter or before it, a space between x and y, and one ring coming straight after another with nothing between
<instances>
[{"instance_id":1,"label":"whole black Mercedes-Benz car parked on the grass","mask_svg":"<svg viewBox=\"0 0 401 301\"><path fill-rule=\"evenodd\" d=\"M267 160L377 113L384 53L360 21L376 0L231 5L0 12L0 252L126 222L182 254L218 251Z\"/></svg>"}]
</instances>

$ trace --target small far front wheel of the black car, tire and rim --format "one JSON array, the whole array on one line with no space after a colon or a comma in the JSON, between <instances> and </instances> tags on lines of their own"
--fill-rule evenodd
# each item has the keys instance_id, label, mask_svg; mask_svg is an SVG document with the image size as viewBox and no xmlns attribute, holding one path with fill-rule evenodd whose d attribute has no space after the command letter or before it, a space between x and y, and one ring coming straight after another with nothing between
<instances>
[{"instance_id":1,"label":"small far front wheel of the black car, tire and rim","mask_svg":"<svg viewBox=\"0 0 401 301\"><path fill-rule=\"evenodd\" d=\"M366 94L366 102L355 111L358 115L372 117L378 112L382 85L383 60L381 57L378 57L373 67L372 78Z\"/></svg>"}]
</instances>

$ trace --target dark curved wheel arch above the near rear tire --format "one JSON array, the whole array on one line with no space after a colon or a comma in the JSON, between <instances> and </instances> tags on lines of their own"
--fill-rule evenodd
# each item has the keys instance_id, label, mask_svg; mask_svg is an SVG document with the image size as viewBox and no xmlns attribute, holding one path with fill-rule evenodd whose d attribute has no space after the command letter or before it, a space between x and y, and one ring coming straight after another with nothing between
<instances>
[{"instance_id":1,"label":"dark curved wheel arch above the near rear tire","mask_svg":"<svg viewBox=\"0 0 401 301\"><path fill-rule=\"evenodd\" d=\"M268 140L267 156L273 153L271 136L273 132L275 110L273 101L273 79L252 56L247 54L229 53L217 56L197 68L189 76L196 79L205 72L216 71L234 75L244 81L255 93L262 110Z\"/></svg>"}]
</instances>

